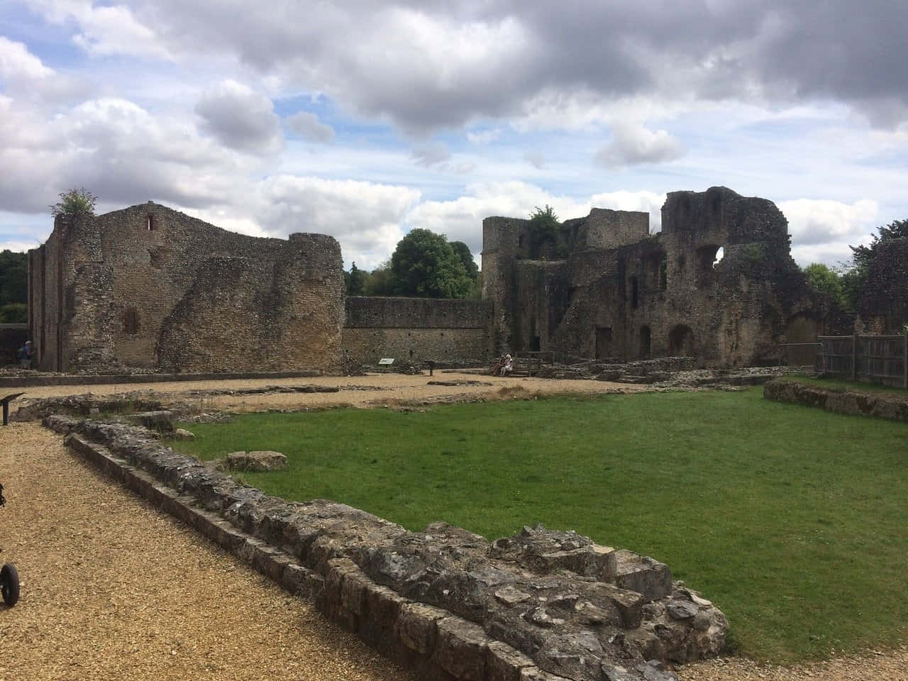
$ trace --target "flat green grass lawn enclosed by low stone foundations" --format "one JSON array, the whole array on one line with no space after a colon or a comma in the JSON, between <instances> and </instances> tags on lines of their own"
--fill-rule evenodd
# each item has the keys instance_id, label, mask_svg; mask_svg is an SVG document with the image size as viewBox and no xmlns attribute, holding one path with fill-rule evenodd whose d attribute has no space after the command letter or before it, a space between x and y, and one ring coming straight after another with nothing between
<instances>
[{"instance_id":1,"label":"flat green grass lawn enclosed by low stone foundations","mask_svg":"<svg viewBox=\"0 0 908 681\"><path fill-rule=\"evenodd\" d=\"M202 459L276 449L247 482L410 529L488 538L576 529L666 562L725 611L749 656L793 662L903 641L908 426L677 392L252 414L188 426Z\"/></svg>"}]
</instances>

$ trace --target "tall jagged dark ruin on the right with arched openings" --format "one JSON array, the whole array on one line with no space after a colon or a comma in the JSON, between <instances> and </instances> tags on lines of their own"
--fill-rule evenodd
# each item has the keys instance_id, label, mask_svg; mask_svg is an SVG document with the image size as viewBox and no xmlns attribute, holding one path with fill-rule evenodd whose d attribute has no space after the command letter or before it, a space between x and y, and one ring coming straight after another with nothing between
<instances>
[{"instance_id":1,"label":"tall jagged dark ruin on the right with arched openings","mask_svg":"<svg viewBox=\"0 0 908 681\"><path fill-rule=\"evenodd\" d=\"M594 209L541 242L528 220L487 218L482 271L498 351L777 363L779 342L839 321L792 260L782 212L725 187L669 193L656 235L642 212Z\"/></svg>"}]
</instances>

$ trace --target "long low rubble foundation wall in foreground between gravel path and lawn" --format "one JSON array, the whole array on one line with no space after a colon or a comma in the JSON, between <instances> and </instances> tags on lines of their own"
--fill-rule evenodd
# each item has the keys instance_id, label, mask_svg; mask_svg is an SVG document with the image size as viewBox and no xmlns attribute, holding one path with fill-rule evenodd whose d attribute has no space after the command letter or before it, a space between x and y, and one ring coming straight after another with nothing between
<instances>
[{"instance_id":1,"label":"long low rubble foundation wall in foreground between gravel path and lawn","mask_svg":"<svg viewBox=\"0 0 908 681\"><path fill-rule=\"evenodd\" d=\"M667 681L714 656L725 616L666 565L574 532L491 544L357 508L266 496L163 446L153 431L52 415L44 425L127 487L383 654L439 681Z\"/></svg>"}]
</instances>

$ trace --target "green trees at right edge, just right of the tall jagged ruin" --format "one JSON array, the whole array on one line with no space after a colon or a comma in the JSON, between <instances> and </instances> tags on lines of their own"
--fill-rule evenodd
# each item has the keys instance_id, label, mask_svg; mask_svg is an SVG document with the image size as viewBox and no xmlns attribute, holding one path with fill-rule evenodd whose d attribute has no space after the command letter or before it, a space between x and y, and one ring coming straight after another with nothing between
<instances>
[{"instance_id":1,"label":"green trees at right edge, just right of the tall jagged ruin","mask_svg":"<svg viewBox=\"0 0 908 681\"><path fill-rule=\"evenodd\" d=\"M827 267L820 262L807 265L804 268L807 281L817 291L827 293L844 310L857 311L873 262L885 244L894 239L908 239L908 220L894 220L877 228L869 246L849 246L851 260L838 267Z\"/></svg>"}]
</instances>

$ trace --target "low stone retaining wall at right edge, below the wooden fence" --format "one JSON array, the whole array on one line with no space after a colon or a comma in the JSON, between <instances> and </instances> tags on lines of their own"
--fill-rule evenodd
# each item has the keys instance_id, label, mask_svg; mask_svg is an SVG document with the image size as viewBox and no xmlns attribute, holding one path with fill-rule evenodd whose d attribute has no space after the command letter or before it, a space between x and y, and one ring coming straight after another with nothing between
<instances>
[{"instance_id":1,"label":"low stone retaining wall at right edge, below the wooden fence","mask_svg":"<svg viewBox=\"0 0 908 681\"><path fill-rule=\"evenodd\" d=\"M833 390L795 380L772 380L765 384L763 396L766 400L801 404L837 414L908 421L908 395L899 398L882 392Z\"/></svg>"}]
</instances>

